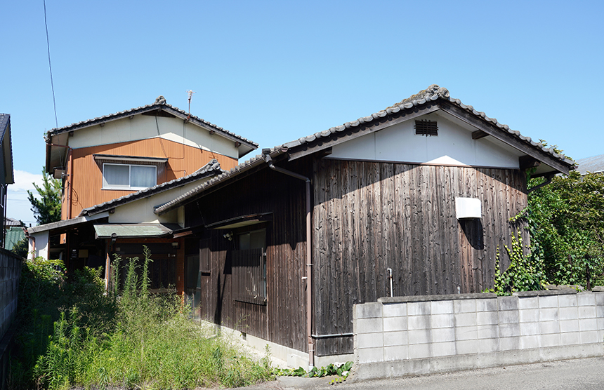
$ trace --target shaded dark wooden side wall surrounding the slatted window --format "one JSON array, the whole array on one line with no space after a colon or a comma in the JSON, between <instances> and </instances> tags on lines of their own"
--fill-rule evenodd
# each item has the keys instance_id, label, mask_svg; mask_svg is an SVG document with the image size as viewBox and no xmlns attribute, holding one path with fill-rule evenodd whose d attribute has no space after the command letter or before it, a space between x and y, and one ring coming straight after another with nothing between
<instances>
[{"instance_id":1,"label":"shaded dark wooden side wall surrounding the slatted window","mask_svg":"<svg viewBox=\"0 0 604 390\"><path fill-rule=\"evenodd\" d=\"M291 169L306 175L312 172L304 166ZM238 229L204 229L189 238L190 245L209 243L210 272L200 276L200 316L306 351L306 283L302 279L306 274L304 182L264 169L185 206L185 224L204 226L255 213L273 213L272 220ZM268 246L266 304L239 302L233 296L231 271L235 241L228 241L223 235L261 228L266 229Z\"/></svg>"}]
</instances>

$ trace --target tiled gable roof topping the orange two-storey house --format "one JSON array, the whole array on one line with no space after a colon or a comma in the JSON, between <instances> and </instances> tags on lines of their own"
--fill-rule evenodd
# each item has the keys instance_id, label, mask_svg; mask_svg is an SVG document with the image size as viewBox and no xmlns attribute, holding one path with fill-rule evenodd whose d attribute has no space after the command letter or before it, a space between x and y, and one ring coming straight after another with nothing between
<instances>
[{"instance_id":1,"label":"tiled gable roof topping the orange two-storey house","mask_svg":"<svg viewBox=\"0 0 604 390\"><path fill-rule=\"evenodd\" d=\"M73 130L78 130L80 128L86 128L88 126L94 126L98 123L103 123L107 120L114 120L114 119L120 119L122 117L126 117L126 116L132 116L135 114L142 114L143 112L150 112L153 111L155 109L171 109L175 112L178 112L179 114L183 115L183 116L188 116L188 112L185 112L182 109L179 109L178 107L174 107L173 105L169 105L168 103L166 103L166 100L164 99L163 96L159 96L157 97L157 99L155 100L155 102L152 105L145 105L145 106L141 106L141 107L136 107L133 109L127 109L126 111L120 111L120 112L116 112L114 114L108 114L108 115L103 115L103 116L98 116L96 118L93 119L86 119L86 121L80 121L77 123L72 123L69 126L64 126L61 128L53 128L51 130L48 130L48 136L51 135L57 135L60 133L65 133L67 131L73 131ZM228 135L230 137L236 138L237 140L239 140L239 142L242 142L244 144L249 144L251 147L253 147L253 149L256 149L258 147L258 144L254 141L248 140L247 138L244 138L240 135L237 135L235 133L230 132L229 130L225 130L224 128L221 128L220 126L216 126L214 123L210 123L209 121L206 121L205 119L199 118L198 116L195 115L191 115L190 119L195 120L195 121L199 121L201 123L203 123L206 126L209 126L210 128L212 128L213 130L215 130L217 133L222 133L223 135Z\"/></svg>"}]
</instances>

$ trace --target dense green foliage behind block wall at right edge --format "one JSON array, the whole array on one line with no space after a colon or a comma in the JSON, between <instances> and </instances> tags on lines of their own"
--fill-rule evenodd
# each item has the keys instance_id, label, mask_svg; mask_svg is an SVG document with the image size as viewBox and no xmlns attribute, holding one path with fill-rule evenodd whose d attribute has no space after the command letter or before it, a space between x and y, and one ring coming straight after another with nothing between
<instances>
[{"instance_id":1,"label":"dense green foliage behind block wall at right edge","mask_svg":"<svg viewBox=\"0 0 604 390\"><path fill-rule=\"evenodd\" d=\"M529 188L544 182L531 179ZM604 175L573 171L528 196L532 257L546 279L591 288L604 281Z\"/></svg>"}]
</instances>

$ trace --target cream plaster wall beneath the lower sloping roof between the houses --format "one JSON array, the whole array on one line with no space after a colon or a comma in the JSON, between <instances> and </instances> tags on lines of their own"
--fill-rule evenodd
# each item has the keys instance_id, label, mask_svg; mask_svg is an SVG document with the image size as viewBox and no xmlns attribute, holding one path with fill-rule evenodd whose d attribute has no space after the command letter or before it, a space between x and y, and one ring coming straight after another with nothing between
<instances>
[{"instance_id":1,"label":"cream plaster wall beneath the lower sloping roof between the houses","mask_svg":"<svg viewBox=\"0 0 604 390\"><path fill-rule=\"evenodd\" d=\"M126 223L178 223L183 226L183 221L180 221L178 210L172 210L164 215L153 213L155 206L162 205L172 199L184 194L197 187L199 184L206 182L209 179L197 180L192 183L185 184L183 187L164 191L160 194L152 195L148 198L138 199L122 206L117 206L115 212L109 215L109 222L112 224Z\"/></svg>"}]
</instances>

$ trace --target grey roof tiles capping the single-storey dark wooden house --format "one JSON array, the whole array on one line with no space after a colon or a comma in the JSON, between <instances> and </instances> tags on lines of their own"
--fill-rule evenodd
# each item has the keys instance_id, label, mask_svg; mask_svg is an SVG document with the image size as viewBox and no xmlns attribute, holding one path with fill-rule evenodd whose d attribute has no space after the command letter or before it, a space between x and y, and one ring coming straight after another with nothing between
<instances>
[{"instance_id":1,"label":"grey roof tiles capping the single-storey dark wooden house","mask_svg":"<svg viewBox=\"0 0 604 390\"><path fill-rule=\"evenodd\" d=\"M452 102L453 105L456 105L457 107L460 107L461 109L466 110L467 112L482 119L483 121L487 121L487 122L494 124L495 126L497 126L497 128L501 129L501 131L510 133L514 137L517 137L519 140L522 140L526 144L529 144L531 147L540 149L543 152L546 152L547 154L551 154L551 156L553 156L554 159L558 159L559 161L562 161L563 163L570 165L570 166L572 166L574 164L574 161L572 161L571 159L568 159L563 154L558 154L558 153L554 152L553 149L544 147L544 145L539 142L534 142L533 140L530 139L530 137L525 137L525 136L521 135L518 131L511 130L511 128L509 128L509 126L499 123L497 121L497 119L489 118L488 116L486 116L486 114L484 112L478 112L474 109L474 107L464 105L463 103L461 103L461 101L459 99L453 99L452 97L449 97L449 90L447 90L447 88L442 88L435 84L429 86L425 90L421 90L419 93L416 93L415 95L412 95L411 97L407 97L406 99L402 100L401 102L396 103L393 106L390 106L386 109L376 112L375 114L359 118L356 121L346 122L341 126L332 127L327 130L321 131L319 133L314 133L313 135L309 135L308 137L298 138L298 140L287 142L285 144L282 144L281 146L273 147L273 149L270 149L270 156L272 158L274 158L275 156L278 156L279 154L283 154L288 151L291 152L291 149L305 147L306 144L313 142L315 140L318 140L320 138L332 137L333 135L336 135L337 133L341 133L350 128L355 128L355 127L361 126L364 123L370 123L376 119L383 118L390 114L396 114L403 110L412 109L414 107L425 105L428 102L433 102L438 99L443 99L448 102ZM186 201L186 200L192 198L196 194L199 194L200 192L202 192L206 189L209 189L210 187L213 187L214 185L216 185L220 182L228 180L230 177L239 175L239 173L242 173L246 170L254 168L254 166L257 166L258 164L263 163L263 161L264 161L263 156L256 155L256 157L254 157L253 159L249 159L249 160L245 161L244 163L239 164L239 166L232 168L228 172L218 175L218 176L212 178L211 180L208 180L207 182L200 184L198 187L191 189L187 193L185 193L181 196L178 196L176 199L173 199L172 201L169 201L168 203L165 203L162 206L158 206L157 208L155 208L155 213L157 213L157 214L164 213L167 210L170 210L171 208L176 207L179 203L182 203L183 201Z\"/></svg>"}]
</instances>

